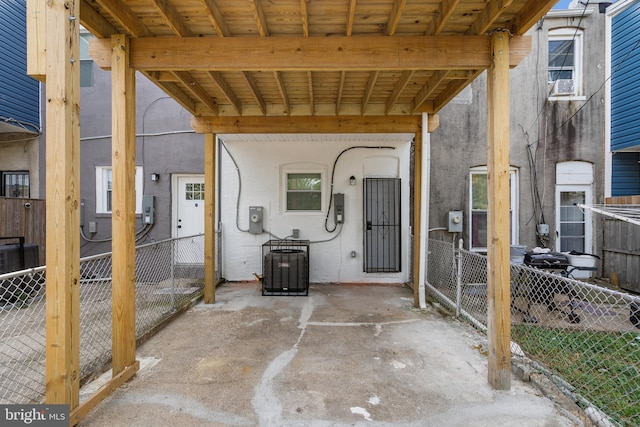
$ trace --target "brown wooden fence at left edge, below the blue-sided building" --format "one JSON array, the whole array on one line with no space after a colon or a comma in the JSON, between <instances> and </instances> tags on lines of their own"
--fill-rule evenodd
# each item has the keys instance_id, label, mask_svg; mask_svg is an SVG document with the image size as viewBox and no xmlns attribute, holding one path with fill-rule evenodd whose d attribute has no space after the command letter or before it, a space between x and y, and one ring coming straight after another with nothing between
<instances>
[{"instance_id":1,"label":"brown wooden fence at left edge, below the blue-sided building","mask_svg":"<svg viewBox=\"0 0 640 427\"><path fill-rule=\"evenodd\" d=\"M24 237L25 243L38 245L39 264L46 259L46 209L40 199L14 199L0 197L0 237ZM0 244L18 243L1 241Z\"/></svg>"}]
</instances>

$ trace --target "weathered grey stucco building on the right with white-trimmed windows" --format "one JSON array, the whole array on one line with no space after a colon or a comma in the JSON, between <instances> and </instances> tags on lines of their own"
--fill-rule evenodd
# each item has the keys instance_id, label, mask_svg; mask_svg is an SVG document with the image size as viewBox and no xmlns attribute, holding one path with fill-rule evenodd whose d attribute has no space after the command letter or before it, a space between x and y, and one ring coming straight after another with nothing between
<instances>
[{"instance_id":1,"label":"weathered grey stucco building on the right with white-trimmed windows","mask_svg":"<svg viewBox=\"0 0 640 427\"><path fill-rule=\"evenodd\" d=\"M604 195L604 11L609 3L552 10L529 31L532 51L511 71L511 244L598 253L598 224L574 203ZM451 240L463 212L464 246L485 251L486 73L440 112L431 135L430 237ZM444 228L445 230L442 230Z\"/></svg>"}]
</instances>

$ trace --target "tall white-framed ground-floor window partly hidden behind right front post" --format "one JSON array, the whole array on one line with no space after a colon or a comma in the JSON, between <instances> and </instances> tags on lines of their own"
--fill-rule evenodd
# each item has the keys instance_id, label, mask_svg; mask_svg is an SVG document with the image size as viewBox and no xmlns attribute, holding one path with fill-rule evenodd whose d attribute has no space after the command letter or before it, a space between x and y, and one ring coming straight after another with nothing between
<instances>
[{"instance_id":1,"label":"tall white-framed ground-floor window partly hidden behind right front post","mask_svg":"<svg viewBox=\"0 0 640 427\"><path fill-rule=\"evenodd\" d=\"M510 189L510 222L511 222L511 244L518 242L518 175L517 170L512 168L509 172ZM480 166L471 169L469 179L470 189L470 215L469 235L470 249L475 251L487 250L487 210L489 208L487 168Z\"/></svg>"}]
</instances>

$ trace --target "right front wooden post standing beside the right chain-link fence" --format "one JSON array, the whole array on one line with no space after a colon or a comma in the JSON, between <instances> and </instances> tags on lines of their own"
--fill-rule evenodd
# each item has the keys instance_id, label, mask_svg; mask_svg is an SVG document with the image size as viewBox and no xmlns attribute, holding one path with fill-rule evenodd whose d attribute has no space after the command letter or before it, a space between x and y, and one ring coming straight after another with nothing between
<instances>
[{"instance_id":1,"label":"right front wooden post standing beside the right chain-link fence","mask_svg":"<svg viewBox=\"0 0 640 427\"><path fill-rule=\"evenodd\" d=\"M487 71L489 384L511 388L509 33L491 35Z\"/></svg>"}]
</instances>

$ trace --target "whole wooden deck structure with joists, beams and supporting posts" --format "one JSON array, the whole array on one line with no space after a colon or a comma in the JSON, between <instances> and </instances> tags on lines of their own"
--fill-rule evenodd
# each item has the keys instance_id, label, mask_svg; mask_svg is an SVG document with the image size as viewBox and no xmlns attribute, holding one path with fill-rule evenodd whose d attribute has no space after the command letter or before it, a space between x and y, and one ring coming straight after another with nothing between
<instances>
[{"instance_id":1,"label":"whole wooden deck structure with joists, beams and supporting posts","mask_svg":"<svg viewBox=\"0 0 640 427\"><path fill-rule=\"evenodd\" d=\"M489 383L510 387L509 69L555 0L27 0L28 73L46 82L46 401L77 423L135 360L135 71L205 134L205 302L215 299L215 138L415 134L414 271L436 113L488 72ZM112 72L113 376L79 404L79 33ZM426 158L426 157L425 157ZM420 237L420 238L418 238Z\"/></svg>"}]
</instances>

